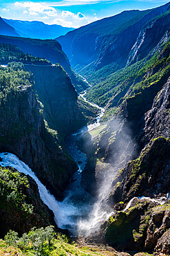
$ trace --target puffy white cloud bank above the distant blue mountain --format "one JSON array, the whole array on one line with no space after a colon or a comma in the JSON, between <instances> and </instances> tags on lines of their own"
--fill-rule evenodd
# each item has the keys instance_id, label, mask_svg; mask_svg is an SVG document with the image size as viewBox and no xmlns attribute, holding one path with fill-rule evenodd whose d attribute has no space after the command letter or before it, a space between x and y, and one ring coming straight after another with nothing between
<instances>
[{"instance_id":1,"label":"puffy white cloud bank above the distant blue mountain","mask_svg":"<svg viewBox=\"0 0 170 256\"><path fill-rule=\"evenodd\" d=\"M1 1L1 0L0 0ZM77 0L81 1L81 0ZM88 1L88 0L86 0ZM92 0L90 0L92 2ZM96 1L96 0L94 0ZM97 0L100 1L100 0ZM107 0L105 0L107 1ZM79 28L80 26L84 26L96 20L94 17L95 15L86 15L83 12L72 12L67 10L67 8L59 8L56 9L54 6L57 6L58 3L76 3L76 0L56 0L55 2L48 2L44 0L44 2L33 2L23 0L23 1L15 1L14 5L10 6L10 10L14 15L18 15L20 19L24 20L36 20L36 21L43 21L47 24L59 24L65 27L73 27ZM82 0L85 3L85 0ZM54 6L53 6L54 3ZM8 6L4 6L4 8L8 8ZM81 9L80 9L81 10ZM4 12L5 13L5 12ZM13 15L13 16L14 16ZM6 17L9 19L9 17ZM10 17L13 18L13 17Z\"/></svg>"}]
</instances>

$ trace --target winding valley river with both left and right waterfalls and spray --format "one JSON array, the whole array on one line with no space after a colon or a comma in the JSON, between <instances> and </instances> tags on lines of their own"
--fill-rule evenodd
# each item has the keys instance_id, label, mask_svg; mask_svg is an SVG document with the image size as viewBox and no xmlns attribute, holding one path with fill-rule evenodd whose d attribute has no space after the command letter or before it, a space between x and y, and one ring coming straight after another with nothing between
<instances>
[{"instance_id":1,"label":"winding valley river with both left and right waterfalls and spray","mask_svg":"<svg viewBox=\"0 0 170 256\"><path fill-rule=\"evenodd\" d=\"M81 97L86 101L85 93L83 93ZM56 225L59 226L59 228L69 230L70 235L73 237L87 237L92 235L93 232L100 228L100 223L107 220L111 214L114 214L114 212L111 211L111 208L106 209L105 203L103 203L110 192L110 184L111 181L113 181L112 176L111 178L109 176L109 181L104 180L103 184L100 185L97 198L94 198L91 194L85 191L81 185L81 176L85 169L87 156L78 149L76 141L87 131L92 131L92 129L100 126L100 118L105 111L96 104L89 104L92 104L100 110L100 113L96 117L96 122L82 127L76 133L70 135L67 138L67 143L65 143L67 151L78 165L78 171L72 176L70 185L64 192L63 201L56 201L55 197L45 188L45 185L39 181L30 167L19 160L17 156L10 153L0 154L2 160L1 165L14 167L19 172L30 175L32 179L34 179L38 185L39 194L43 203L54 212L54 221L56 222ZM169 197L170 193L167 194L167 197L161 197L160 199L149 199L142 196L140 200L156 201L159 204L163 204ZM134 199L129 201L124 211L131 207L131 203L133 203Z\"/></svg>"}]
</instances>

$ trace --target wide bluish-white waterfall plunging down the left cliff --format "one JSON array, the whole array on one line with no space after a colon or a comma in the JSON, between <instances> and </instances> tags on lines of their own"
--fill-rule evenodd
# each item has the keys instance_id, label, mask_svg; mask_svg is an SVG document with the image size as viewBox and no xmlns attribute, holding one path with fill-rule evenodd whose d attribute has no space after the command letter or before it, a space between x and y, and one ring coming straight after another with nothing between
<instances>
[{"instance_id":1,"label":"wide bluish-white waterfall plunging down the left cliff","mask_svg":"<svg viewBox=\"0 0 170 256\"><path fill-rule=\"evenodd\" d=\"M59 201L56 201L54 196L50 194L50 192L45 188L45 186L39 181L36 177L36 174L32 172L28 165L25 165L17 156L10 153L1 153L0 157L2 161L0 164L2 166L10 166L17 169L19 172L22 172L25 175L30 175L32 179L36 182L39 188L40 197L50 210L54 212L54 221L59 228L65 228L65 225L72 225L72 220L70 216L72 216L72 212L76 211L73 205L65 205Z\"/></svg>"}]
</instances>

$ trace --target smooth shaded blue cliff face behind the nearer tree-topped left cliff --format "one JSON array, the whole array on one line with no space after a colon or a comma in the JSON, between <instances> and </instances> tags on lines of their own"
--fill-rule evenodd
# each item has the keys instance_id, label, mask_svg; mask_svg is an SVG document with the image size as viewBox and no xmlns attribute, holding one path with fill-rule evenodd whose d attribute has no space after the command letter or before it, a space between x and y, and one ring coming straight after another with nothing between
<instances>
[{"instance_id":1,"label":"smooth shaded blue cliff face behind the nearer tree-topped left cliff","mask_svg":"<svg viewBox=\"0 0 170 256\"><path fill-rule=\"evenodd\" d=\"M50 128L65 137L85 125L77 93L60 65L25 65L25 68L34 75L34 89L43 103L43 115Z\"/></svg>"}]
</instances>

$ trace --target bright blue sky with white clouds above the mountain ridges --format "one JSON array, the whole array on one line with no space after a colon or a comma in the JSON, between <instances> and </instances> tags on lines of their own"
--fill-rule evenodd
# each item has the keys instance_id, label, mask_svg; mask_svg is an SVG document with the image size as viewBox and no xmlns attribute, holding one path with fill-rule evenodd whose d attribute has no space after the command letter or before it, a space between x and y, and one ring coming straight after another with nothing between
<instances>
[{"instance_id":1,"label":"bright blue sky with white clouds above the mountain ridges","mask_svg":"<svg viewBox=\"0 0 170 256\"><path fill-rule=\"evenodd\" d=\"M43 21L46 24L78 28L123 10L145 10L169 1L121 0L0 0L0 16L6 19Z\"/></svg>"}]
</instances>

